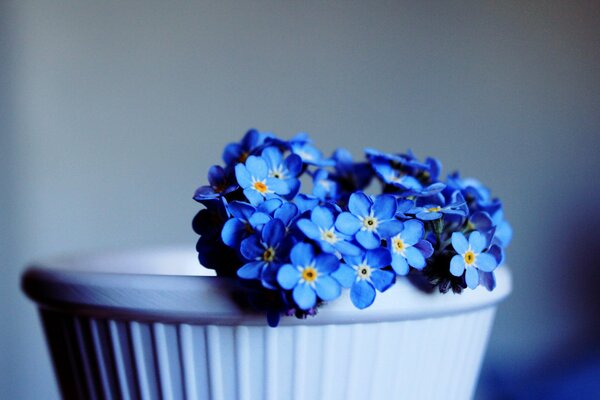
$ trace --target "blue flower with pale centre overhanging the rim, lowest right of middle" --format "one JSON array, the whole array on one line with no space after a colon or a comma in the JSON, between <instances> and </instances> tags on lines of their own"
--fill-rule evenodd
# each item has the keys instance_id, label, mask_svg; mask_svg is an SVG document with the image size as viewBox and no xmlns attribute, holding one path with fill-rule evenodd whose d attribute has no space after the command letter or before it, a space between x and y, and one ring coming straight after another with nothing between
<instances>
[{"instance_id":1,"label":"blue flower with pale centre overhanging the rim, lowest right of middle","mask_svg":"<svg viewBox=\"0 0 600 400\"><path fill-rule=\"evenodd\" d=\"M390 265L391 256L388 249L380 247L362 252L359 256L344 257L345 264L332 276L344 287L350 288L350 300L358 309L373 304L375 290L386 291L394 284L395 274L383 270Z\"/></svg>"}]
</instances>

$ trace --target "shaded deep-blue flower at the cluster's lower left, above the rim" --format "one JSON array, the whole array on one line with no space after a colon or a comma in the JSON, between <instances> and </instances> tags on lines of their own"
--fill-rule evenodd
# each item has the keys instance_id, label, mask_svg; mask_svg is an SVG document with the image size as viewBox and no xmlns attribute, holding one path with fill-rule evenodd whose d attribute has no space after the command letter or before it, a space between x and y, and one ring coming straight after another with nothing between
<instances>
[{"instance_id":1,"label":"shaded deep-blue flower at the cluster's lower left, above the rim","mask_svg":"<svg viewBox=\"0 0 600 400\"><path fill-rule=\"evenodd\" d=\"M237 271L238 276L242 279L260 279L263 286L275 289L277 270L289 251L283 222L279 219L267 222L262 232L242 241L240 251L248 262Z\"/></svg>"}]
</instances>

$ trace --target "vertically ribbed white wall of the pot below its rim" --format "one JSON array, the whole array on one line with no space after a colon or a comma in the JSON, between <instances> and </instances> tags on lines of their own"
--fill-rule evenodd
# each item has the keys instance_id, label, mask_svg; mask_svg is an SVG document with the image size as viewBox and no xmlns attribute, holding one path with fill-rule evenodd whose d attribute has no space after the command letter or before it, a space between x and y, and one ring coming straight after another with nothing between
<instances>
[{"instance_id":1,"label":"vertically ribbed white wall of the pot below its rim","mask_svg":"<svg viewBox=\"0 0 600 400\"><path fill-rule=\"evenodd\" d=\"M473 395L495 307L275 329L41 312L64 398L463 400Z\"/></svg>"}]
</instances>

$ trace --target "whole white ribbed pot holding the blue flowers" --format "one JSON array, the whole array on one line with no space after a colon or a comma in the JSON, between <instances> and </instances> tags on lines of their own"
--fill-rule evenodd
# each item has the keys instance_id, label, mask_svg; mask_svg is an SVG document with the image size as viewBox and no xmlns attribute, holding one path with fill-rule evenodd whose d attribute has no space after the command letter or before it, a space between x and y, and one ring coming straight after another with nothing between
<instances>
[{"instance_id":1,"label":"whole white ribbed pot holding the blue flowers","mask_svg":"<svg viewBox=\"0 0 600 400\"><path fill-rule=\"evenodd\" d=\"M239 309L196 254L162 249L46 261L23 277L40 309L64 398L468 399L498 287L425 294L404 279L359 311L316 317ZM203 275L203 276L197 276Z\"/></svg>"}]
</instances>

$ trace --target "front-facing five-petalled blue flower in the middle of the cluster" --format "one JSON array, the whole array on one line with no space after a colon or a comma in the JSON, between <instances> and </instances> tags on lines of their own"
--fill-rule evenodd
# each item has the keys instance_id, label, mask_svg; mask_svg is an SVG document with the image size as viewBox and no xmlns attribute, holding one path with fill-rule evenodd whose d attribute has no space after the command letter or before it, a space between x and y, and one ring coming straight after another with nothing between
<instances>
[{"instance_id":1,"label":"front-facing five-petalled blue flower in the middle of the cluster","mask_svg":"<svg viewBox=\"0 0 600 400\"><path fill-rule=\"evenodd\" d=\"M392 195L383 194L373 201L363 192L355 192L350 196L348 209L350 212L337 217L335 227L354 236L365 249L379 247L381 239L397 232L402 224L395 219L397 204Z\"/></svg>"}]
</instances>

